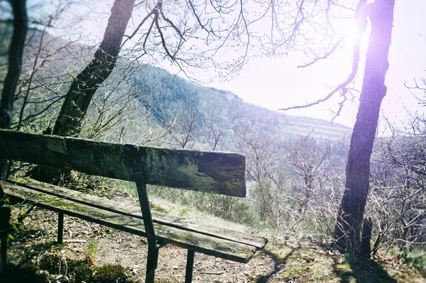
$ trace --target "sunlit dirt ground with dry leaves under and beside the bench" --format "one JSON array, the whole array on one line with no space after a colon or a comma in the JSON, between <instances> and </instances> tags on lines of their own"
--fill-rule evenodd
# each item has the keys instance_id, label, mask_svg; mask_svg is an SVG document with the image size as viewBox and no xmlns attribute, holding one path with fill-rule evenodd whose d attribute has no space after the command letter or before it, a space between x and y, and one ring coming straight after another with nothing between
<instances>
[{"instance_id":1,"label":"sunlit dirt ground with dry leaves under and beside the bench","mask_svg":"<svg viewBox=\"0 0 426 283\"><path fill-rule=\"evenodd\" d=\"M126 194L116 195L114 200L132 204L136 201ZM167 209L169 213L179 213L179 209ZM184 213L183 217L196 216ZM208 221L223 224L215 218ZM9 244L9 262L13 266L31 263L37 272L44 272L45 282L70 282L63 267L67 262L83 259L89 259L95 266L122 265L133 282L144 281L148 247L145 238L65 216L64 243L56 245L58 214L44 209L32 211L23 226L23 231L13 235ZM392 259L382 259L380 264L371 260L365 266L353 265L329 245L289 235L266 237L266 249L258 251L248 264L196 253L193 282L426 282L420 272ZM184 282L186 253L173 245L160 248L156 282ZM40 262L50 255L55 256L51 262L55 268L40 271Z\"/></svg>"}]
</instances>

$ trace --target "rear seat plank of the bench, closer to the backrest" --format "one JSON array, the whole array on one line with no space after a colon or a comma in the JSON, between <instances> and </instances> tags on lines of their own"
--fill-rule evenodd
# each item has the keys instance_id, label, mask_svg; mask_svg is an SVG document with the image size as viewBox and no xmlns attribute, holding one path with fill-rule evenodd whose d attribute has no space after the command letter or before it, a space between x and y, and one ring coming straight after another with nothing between
<instances>
[{"instance_id":1,"label":"rear seat plank of the bench, closer to the backrest","mask_svg":"<svg viewBox=\"0 0 426 283\"><path fill-rule=\"evenodd\" d=\"M33 179L28 179L26 180L26 182L16 182L16 180L11 181L13 181L13 184L16 184L21 187L28 187L29 189L35 189L38 190L38 192L44 192L46 194L52 194L54 196L61 196L72 201L87 204L89 206L97 206L102 209L107 209L111 212L121 213L136 218L142 218L141 209L138 206L131 206L128 204L123 205L117 201L111 201L110 199L100 198L99 196L82 194L72 189L38 182ZM0 184L3 183L0 182ZM158 211L151 211L151 213L153 216L153 221L155 223L173 226L175 228L183 229L186 231L194 231L204 235L210 235L215 238L232 240L237 243L253 245L257 249L264 248L267 243L267 240L265 238L250 235L249 233L244 233L242 231L232 231L229 229L208 225L207 223L199 223L197 221L192 221L188 218L182 218L165 213L160 213Z\"/></svg>"}]
</instances>

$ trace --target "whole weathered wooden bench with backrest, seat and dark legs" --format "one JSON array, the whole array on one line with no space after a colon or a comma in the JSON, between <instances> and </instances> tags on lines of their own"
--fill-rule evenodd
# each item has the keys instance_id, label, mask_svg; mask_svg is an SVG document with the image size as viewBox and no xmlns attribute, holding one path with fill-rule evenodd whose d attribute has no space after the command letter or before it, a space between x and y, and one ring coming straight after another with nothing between
<instances>
[{"instance_id":1,"label":"whole weathered wooden bench with backrest, seat and dark legs","mask_svg":"<svg viewBox=\"0 0 426 283\"><path fill-rule=\"evenodd\" d=\"M9 180L0 185L13 203L21 201L58 212L58 243L62 243L64 214L146 237L146 282L153 282L158 250L165 244L188 250L185 282L192 282L195 252L249 262L256 250L266 245L265 238L194 223L151 211L149 206L146 184L245 197L244 155L0 130L0 157L136 182L140 207L43 182ZM6 240L2 240L1 250L1 261L6 262Z\"/></svg>"}]
</instances>

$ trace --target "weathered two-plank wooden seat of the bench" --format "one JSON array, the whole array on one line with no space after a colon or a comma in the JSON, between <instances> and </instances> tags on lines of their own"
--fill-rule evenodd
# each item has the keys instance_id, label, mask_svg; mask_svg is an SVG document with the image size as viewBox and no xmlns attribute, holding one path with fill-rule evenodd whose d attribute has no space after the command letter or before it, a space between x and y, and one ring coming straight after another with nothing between
<instances>
[{"instance_id":1,"label":"weathered two-plank wooden seat of the bench","mask_svg":"<svg viewBox=\"0 0 426 283\"><path fill-rule=\"evenodd\" d=\"M44 209L82 218L110 228L146 237L141 209L123 205L99 196L82 194L35 180L0 181L13 202L40 206ZM266 239L215 226L196 223L187 218L151 211L158 242L170 243L197 253L236 262L249 262L256 250L264 248Z\"/></svg>"}]
</instances>

